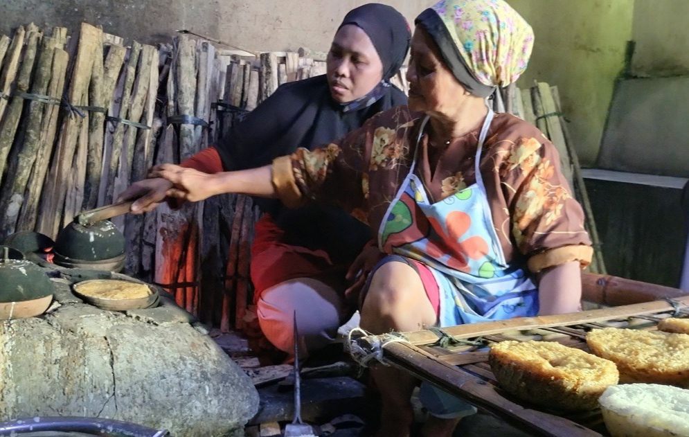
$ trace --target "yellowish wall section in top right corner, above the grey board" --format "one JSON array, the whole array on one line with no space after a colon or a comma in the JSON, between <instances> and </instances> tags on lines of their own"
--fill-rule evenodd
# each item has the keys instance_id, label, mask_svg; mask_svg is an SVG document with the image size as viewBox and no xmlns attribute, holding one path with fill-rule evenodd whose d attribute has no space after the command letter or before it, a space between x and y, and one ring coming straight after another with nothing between
<instances>
[{"instance_id":1,"label":"yellowish wall section in top right corner, above the grey board","mask_svg":"<svg viewBox=\"0 0 689 437\"><path fill-rule=\"evenodd\" d=\"M632 71L636 75L689 74L689 1L636 0Z\"/></svg>"}]
</instances>

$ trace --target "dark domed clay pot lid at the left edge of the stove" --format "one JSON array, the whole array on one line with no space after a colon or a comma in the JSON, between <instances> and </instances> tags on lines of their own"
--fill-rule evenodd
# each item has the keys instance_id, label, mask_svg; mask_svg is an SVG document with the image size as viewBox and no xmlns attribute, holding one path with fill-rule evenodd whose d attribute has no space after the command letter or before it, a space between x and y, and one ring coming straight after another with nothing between
<instances>
[{"instance_id":1,"label":"dark domed clay pot lid at the left edge of the stove","mask_svg":"<svg viewBox=\"0 0 689 437\"><path fill-rule=\"evenodd\" d=\"M9 248L0 255L0 303L31 301L52 296L55 288L44 271L33 262L13 260Z\"/></svg>"}]
</instances>

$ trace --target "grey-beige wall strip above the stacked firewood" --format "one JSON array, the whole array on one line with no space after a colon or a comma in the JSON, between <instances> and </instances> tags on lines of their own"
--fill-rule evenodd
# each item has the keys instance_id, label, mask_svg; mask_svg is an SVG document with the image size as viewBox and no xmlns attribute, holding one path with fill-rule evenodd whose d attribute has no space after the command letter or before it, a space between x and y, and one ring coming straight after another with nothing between
<instances>
[{"instance_id":1,"label":"grey-beige wall strip above the stacked firewood","mask_svg":"<svg viewBox=\"0 0 689 437\"><path fill-rule=\"evenodd\" d=\"M369 0L370 1L370 0ZM366 0L0 0L0 33L34 21L42 27L100 24L114 35L141 42L169 39L178 29L251 51L326 51L335 27ZM380 1L410 23L432 0Z\"/></svg>"}]
</instances>

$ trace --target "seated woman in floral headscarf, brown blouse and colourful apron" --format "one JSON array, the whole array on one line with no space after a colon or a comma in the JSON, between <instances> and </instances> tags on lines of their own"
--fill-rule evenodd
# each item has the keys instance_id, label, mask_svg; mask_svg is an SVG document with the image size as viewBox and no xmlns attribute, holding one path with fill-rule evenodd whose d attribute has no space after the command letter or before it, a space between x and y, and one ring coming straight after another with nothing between
<instances>
[{"instance_id":1,"label":"seated woman in floral headscarf, brown blouse and colourful apron","mask_svg":"<svg viewBox=\"0 0 689 437\"><path fill-rule=\"evenodd\" d=\"M272 166L154 173L175 184L176 197L316 199L366 222L385 254L361 299L361 328L373 333L574 312L592 253L582 208L550 141L485 100L519 78L532 46L530 26L503 0L441 1L416 20L408 107ZM391 368L372 373L379 435L409 435L415 381ZM433 414L427 436L451 435L473 408L427 387L421 397Z\"/></svg>"}]
</instances>

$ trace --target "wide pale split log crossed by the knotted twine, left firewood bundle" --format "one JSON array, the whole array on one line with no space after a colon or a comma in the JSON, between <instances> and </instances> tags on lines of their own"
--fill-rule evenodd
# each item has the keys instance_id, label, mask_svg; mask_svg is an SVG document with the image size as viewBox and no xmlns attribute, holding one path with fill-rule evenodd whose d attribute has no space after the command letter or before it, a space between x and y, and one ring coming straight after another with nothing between
<instances>
[{"instance_id":1,"label":"wide pale split log crossed by the knotted twine, left firewood bundle","mask_svg":"<svg viewBox=\"0 0 689 437\"><path fill-rule=\"evenodd\" d=\"M67 101L74 106L86 105L89 82L93 72L96 48L102 44L102 30L83 23L78 38L78 48L71 69L71 80ZM57 141L55 159L46 179L46 193L42 196L39 213L39 229L42 233L55 237L62 223L64 197L72 172L76 143L83 118L74 114L65 116L62 121L60 138Z\"/></svg>"}]
</instances>

